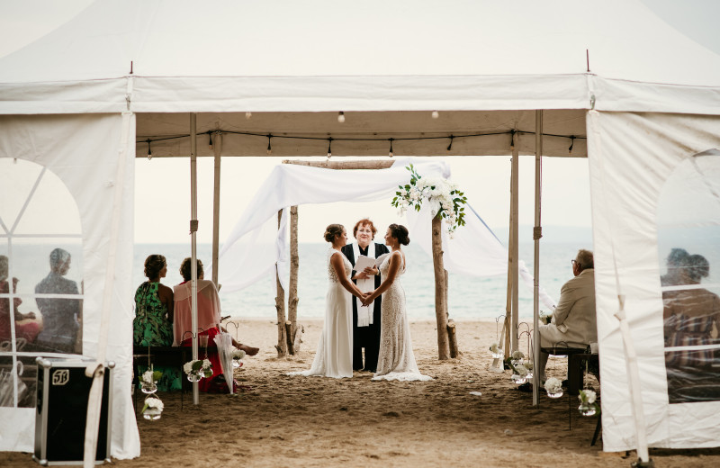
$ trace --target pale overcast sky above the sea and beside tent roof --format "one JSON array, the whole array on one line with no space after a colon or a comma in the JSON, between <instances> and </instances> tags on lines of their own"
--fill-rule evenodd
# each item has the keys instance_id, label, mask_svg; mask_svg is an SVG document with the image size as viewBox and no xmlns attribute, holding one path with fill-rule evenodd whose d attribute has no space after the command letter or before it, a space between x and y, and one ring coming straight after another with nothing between
<instances>
[{"instance_id":1,"label":"pale overcast sky above the sea and beside tent roof","mask_svg":"<svg viewBox=\"0 0 720 468\"><path fill-rule=\"evenodd\" d=\"M90 0L0 1L0 56L35 40L79 13ZM711 0L644 0L653 12L708 49L720 53L716 19L720 2ZM509 157L447 157L453 179L491 227L509 223ZM220 242L279 157L234 157L222 160ZM189 169L187 158L136 160L135 240L139 243L189 242ZM590 188L586 159L544 158L543 223L590 226ZM534 222L534 158L520 157L520 223ZM212 160L198 164L200 242L211 241ZM331 203L301 207L301 241L320 241L331 222L351 225L371 216L379 226L397 219L390 201ZM531 239L521 239L530 241Z\"/></svg>"}]
</instances>

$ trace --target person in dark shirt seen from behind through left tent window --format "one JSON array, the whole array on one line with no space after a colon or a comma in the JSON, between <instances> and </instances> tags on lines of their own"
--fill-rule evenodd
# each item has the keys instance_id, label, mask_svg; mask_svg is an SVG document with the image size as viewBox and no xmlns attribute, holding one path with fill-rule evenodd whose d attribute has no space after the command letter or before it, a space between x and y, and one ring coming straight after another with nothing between
<instances>
[{"instance_id":1,"label":"person in dark shirt seen from behind through left tent window","mask_svg":"<svg viewBox=\"0 0 720 468\"><path fill-rule=\"evenodd\" d=\"M37 294L79 294L76 282L68 280L70 253L62 248L50 252L50 273L35 286ZM58 297L36 298L42 315L42 331L37 344L61 353L75 353L79 350L77 332L80 329L81 300Z\"/></svg>"}]
</instances>

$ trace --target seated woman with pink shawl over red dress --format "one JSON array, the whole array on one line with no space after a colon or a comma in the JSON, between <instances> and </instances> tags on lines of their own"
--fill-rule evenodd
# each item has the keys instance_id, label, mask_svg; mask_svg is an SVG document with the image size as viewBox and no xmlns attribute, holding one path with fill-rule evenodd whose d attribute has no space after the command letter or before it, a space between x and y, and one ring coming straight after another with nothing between
<instances>
[{"instance_id":1,"label":"seated woman with pink shawl over red dress","mask_svg":"<svg viewBox=\"0 0 720 468\"><path fill-rule=\"evenodd\" d=\"M174 288L175 297L175 320L173 329L175 334L175 346L192 346L193 321L191 316L192 282L191 280L192 260L188 257L180 265L180 275L183 275L184 282ZM201 392L228 392L227 384L222 378L220 359L218 358L217 346L214 338L220 330L227 332L220 326L220 297L218 290L210 280L203 278L202 262L197 261L197 330L198 342L201 337L207 337L207 351L200 349L198 358L202 359L205 352L212 364L212 377L202 379L199 382ZM257 355L257 347L247 347L232 339L232 346L242 349L248 356ZM217 378L216 378L217 377Z\"/></svg>"}]
</instances>

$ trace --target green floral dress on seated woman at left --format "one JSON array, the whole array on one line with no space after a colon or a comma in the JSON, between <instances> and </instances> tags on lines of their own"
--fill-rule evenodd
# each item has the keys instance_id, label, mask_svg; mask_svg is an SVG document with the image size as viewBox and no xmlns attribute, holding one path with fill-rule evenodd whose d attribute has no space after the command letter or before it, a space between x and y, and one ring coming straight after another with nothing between
<instances>
[{"instance_id":1,"label":"green floral dress on seated woman at left","mask_svg":"<svg viewBox=\"0 0 720 468\"><path fill-rule=\"evenodd\" d=\"M157 295L158 286L159 283L145 282L140 284L138 291L135 292L132 342L136 346L169 347L173 344L173 324L167 320L166 305L160 301ZM147 368L147 365L139 365L140 375ZM163 373L157 382L157 390L168 392L182 389L180 369L157 366L154 370Z\"/></svg>"}]
</instances>

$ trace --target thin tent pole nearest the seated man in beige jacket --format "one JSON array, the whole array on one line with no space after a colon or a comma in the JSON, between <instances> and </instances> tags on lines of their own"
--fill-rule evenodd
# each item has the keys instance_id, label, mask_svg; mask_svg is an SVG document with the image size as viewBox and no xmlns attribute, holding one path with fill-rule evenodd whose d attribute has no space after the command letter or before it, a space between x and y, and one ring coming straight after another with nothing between
<instances>
[{"instance_id":1,"label":"thin tent pole nearest the seated man in beige jacket","mask_svg":"<svg viewBox=\"0 0 720 468\"><path fill-rule=\"evenodd\" d=\"M535 229L533 240L535 252L533 257L533 406L538 405L538 392L540 377L537 374L537 363L540 358L540 238L543 237L543 227L540 219L542 194L542 168L543 168L543 111L535 112Z\"/></svg>"}]
</instances>

